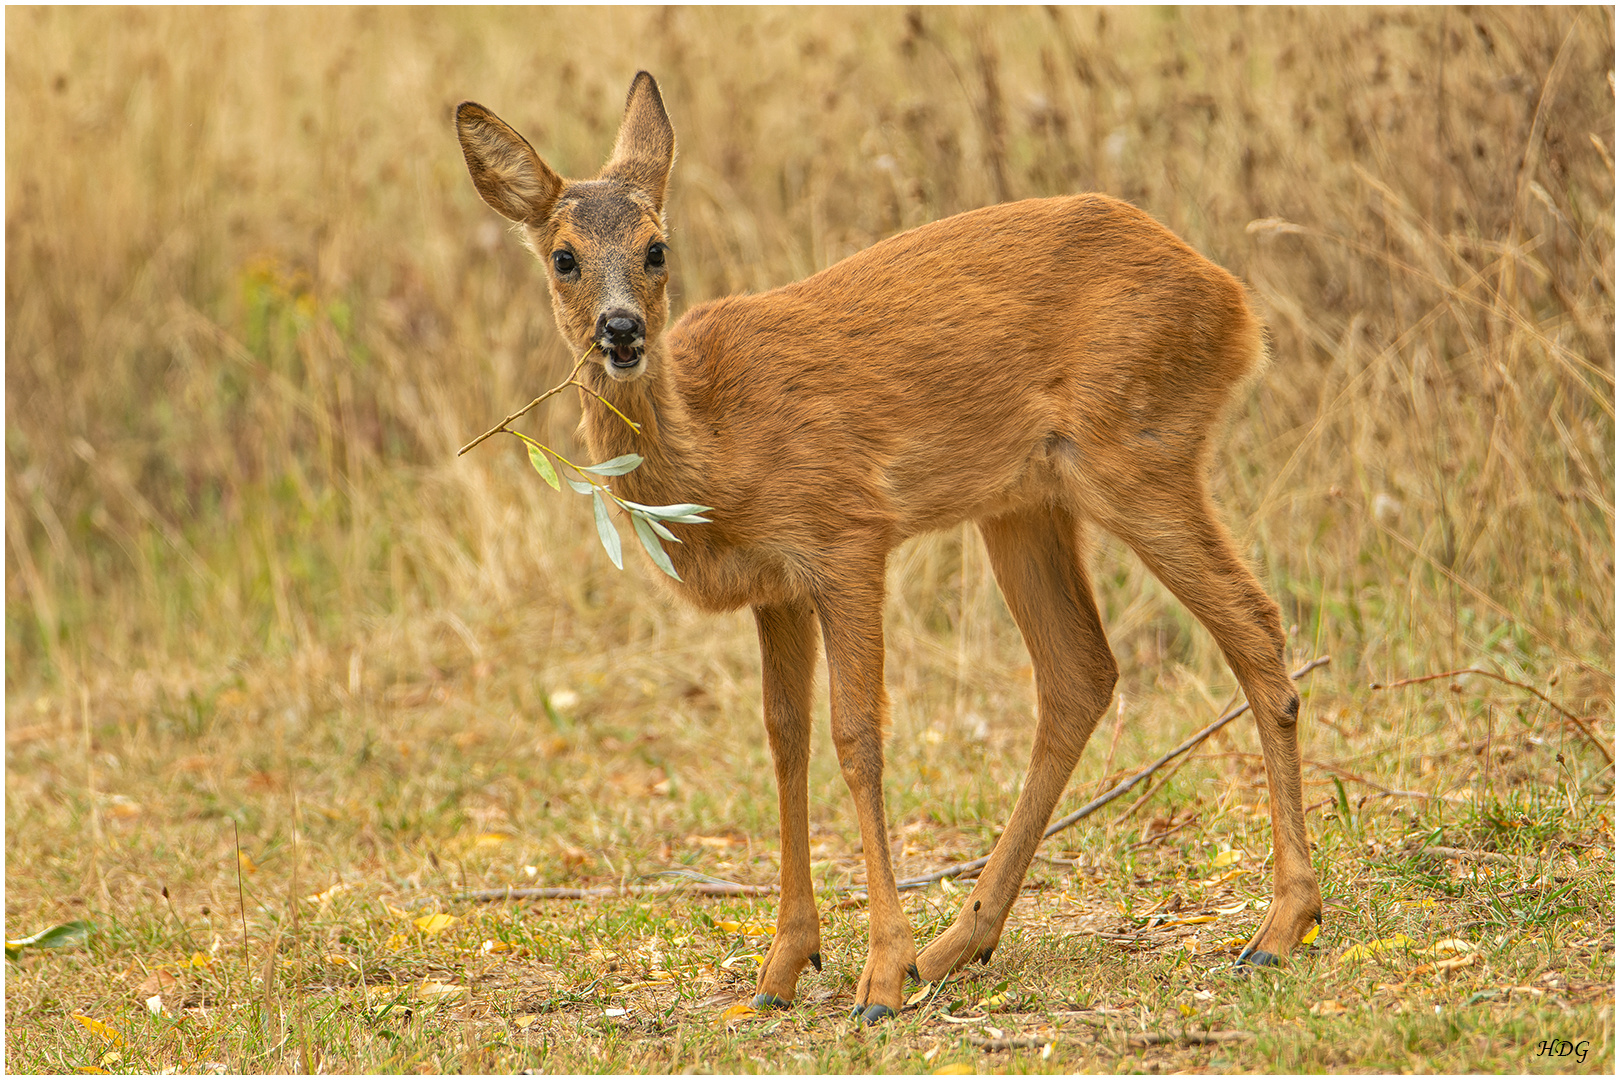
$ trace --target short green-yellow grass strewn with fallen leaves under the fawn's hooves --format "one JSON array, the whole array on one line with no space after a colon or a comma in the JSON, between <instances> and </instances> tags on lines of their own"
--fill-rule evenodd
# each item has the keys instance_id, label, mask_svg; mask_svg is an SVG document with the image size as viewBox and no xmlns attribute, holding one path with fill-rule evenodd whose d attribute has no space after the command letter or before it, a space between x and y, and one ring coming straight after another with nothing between
<instances>
[{"instance_id":1,"label":"short green-yellow grass strewn with fallen leaves under the fawn's hooves","mask_svg":"<svg viewBox=\"0 0 1620 1080\"><path fill-rule=\"evenodd\" d=\"M671 662L620 659L609 716L633 714L642 678ZM1325 685L1369 712L1388 699L1328 672L1312 678L1312 703ZM24 950L10 965L11 1067L1542 1072L1575 1064L1539 1059L1541 1041L1584 1040L1580 1069L1612 1069L1610 793L1578 738L1515 743L1489 785L1471 756L1461 769L1435 766L1418 784L1435 798L1380 798L1351 782L1340 800L1330 776L1307 766L1324 931L1286 970L1239 976L1233 942L1270 897L1270 821L1254 735L1231 730L1226 750L1196 758L1131 816L1118 821L1121 800L1053 837L1043 850L1061 861L1037 861L993 962L872 1031L844 1015L865 913L836 892L862 874L825 745L812 771L812 857L826 970L805 973L786 1014L723 1018L753 993L748 957L765 938L748 928L771 926L770 899L457 900L468 887L656 884L667 870L745 882L776 873L773 782L747 711L705 717L695 704L663 725L630 727L573 691L577 704L554 708L552 721L544 709L509 711L522 680L467 672L439 683L437 706L411 704L431 703L421 688L363 685L353 701L330 690L298 716L282 708L296 691L245 672L152 709L159 719L144 729L92 722L89 759L71 727L16 742L8 852L28 870L11 874L8 929L70 918L96 929L83 949ZM1176 698L1155 703L1170 709ZM49 716L53 704L23 711ZM1464 717L1511 704L1492 695ZM1181 714L1186 724L1166 730L1197 722L1199 706L1183 699ZM889 769L902 874L987 848L1029 740L1025 724L1003 721L990 742L1004 753L956 740L925 758L927 732L914 722L896 721ZM249 724L256 738L245 740ZM1309 730L1317 759L1336 737ZM1144 742L1123 738L1116 764L1147 756ZM1361 745L1377 750L1377 738ZM1419 748L1439 750L1434 740ZM1071 805L1102 779L1098 750ZM1580 764L1565 769L1558 753ZM953 798L949 777L975 767L985 782L967 803L962 790ZM92 787L68 784L89 769ZM1422 853L1437 845L1518 858ZM907 894L920 939L954 912L954 889ZM1157 929L1162 912L1215 918ZM433 913L457 921L423 933L416 920ZM726 920L744 929L719 928ZM1396 934L1409 947L1341 959ZM1466 949L1426 952L1448 939ZM1474 959L1452 973L1435 967L1455 955ZM154 981L157 972L173 981ZM147 1012L154 993L164 1017ZM609 1014L617 1009L627 1012ZM122 1041L73 1014L112 1025ZM1045 1036L1053 1049L969 1041L998 1038L990 1028ZM1241 1035L1187 1043L1186 1028Z\"/></svg>"}]
</instances>

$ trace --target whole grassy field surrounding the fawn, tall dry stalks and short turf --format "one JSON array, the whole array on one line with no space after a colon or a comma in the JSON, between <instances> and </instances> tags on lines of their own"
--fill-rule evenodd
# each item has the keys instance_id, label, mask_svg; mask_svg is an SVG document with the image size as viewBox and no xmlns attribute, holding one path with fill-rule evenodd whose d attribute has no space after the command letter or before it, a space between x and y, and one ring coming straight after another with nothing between
<instances>
[{"instance_id":1,"label":"whole grassy field surrounding the fawn, tall dry stalks and short turf","mask_svg":"<svg viewBox=\"0 0 1620 1080\"><path fill-rule=\"evenodd\" d=\"M36 8L6 44L6 936L91 926L8 962L8 1070L1614 1070L1610 10ZM729 1012L770 897L457 899L774 879L750 620L612 570L514 449L452 457L567 358L450 108L588 173L638 66L677 311L1090 188L1252 285L1275 363L1215 489L1333 657L1285 972L1226 970L1268 897L1243 722L876 1030L825 737L787 1014ZM1094 575L1121 696L1066 808L1234 691L1106 538ZM1032 733L975 534L896 555L888 641L920 873L988 850ZM1369 690L1463 667L1511 682Z\"/></svg>"}]
</instances>

